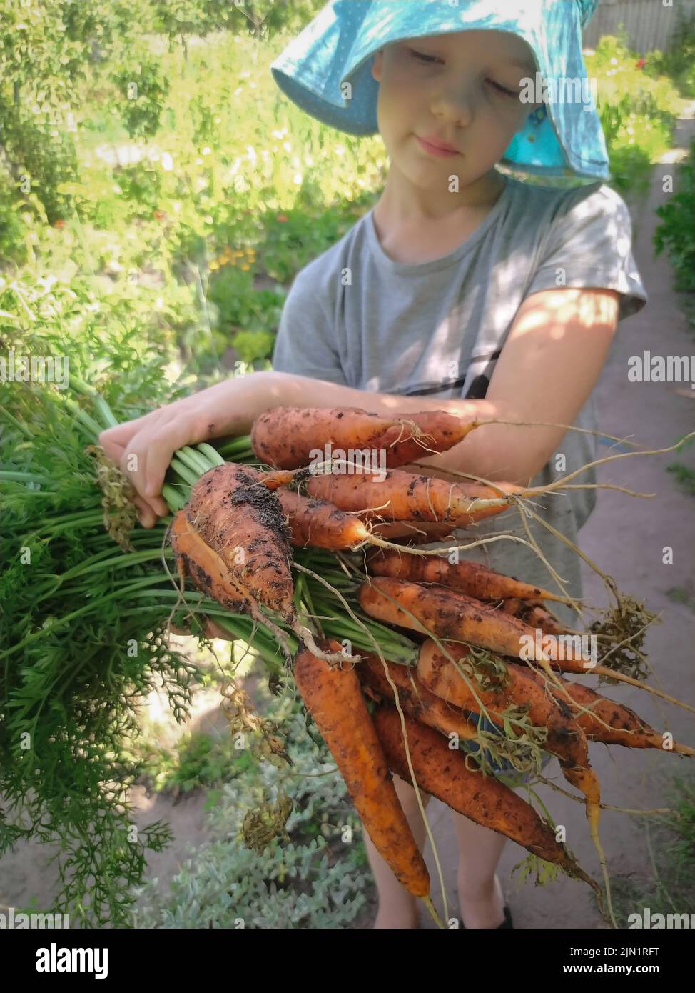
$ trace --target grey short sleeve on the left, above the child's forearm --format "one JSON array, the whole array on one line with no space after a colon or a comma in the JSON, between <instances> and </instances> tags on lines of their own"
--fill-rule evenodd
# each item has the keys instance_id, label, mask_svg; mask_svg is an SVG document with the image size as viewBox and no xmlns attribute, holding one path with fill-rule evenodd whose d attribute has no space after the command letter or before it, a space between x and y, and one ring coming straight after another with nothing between
<instances>
[{"instance_id":1,"label":"grey short sleeve on the left, above the child's forearm","mask_svg":"<svg viewBox=\"0 0 695 993\"><path fill-rule=\"evenodd\" d=\"M334 318L320 280L302 269L286 298L273 351L273 368L347 385L334 343Z\"/></svg>"}]
</instances>

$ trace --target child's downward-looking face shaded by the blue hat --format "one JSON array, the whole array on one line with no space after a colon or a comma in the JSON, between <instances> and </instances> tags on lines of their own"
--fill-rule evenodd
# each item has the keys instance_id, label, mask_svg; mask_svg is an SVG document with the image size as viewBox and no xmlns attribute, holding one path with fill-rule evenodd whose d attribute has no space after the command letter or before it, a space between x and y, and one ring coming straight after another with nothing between
<instances>
[{"instance_id":1,"label":"child's downward-looking face shaded by the blue hat","mask_svg":"<svg viewBox=\"0 0 695 993\"><path fill-rule=\"evenodd\" d=\"M377 119L392 162L417 187L441 189L457 175L475 182L502 159L537 106L522 103L521 80L533 77L530 48L501 31L429 35L389 45L372 69L379 80ZM452 145L444 158L418 138Z\"/></svg>"}]
</instances>

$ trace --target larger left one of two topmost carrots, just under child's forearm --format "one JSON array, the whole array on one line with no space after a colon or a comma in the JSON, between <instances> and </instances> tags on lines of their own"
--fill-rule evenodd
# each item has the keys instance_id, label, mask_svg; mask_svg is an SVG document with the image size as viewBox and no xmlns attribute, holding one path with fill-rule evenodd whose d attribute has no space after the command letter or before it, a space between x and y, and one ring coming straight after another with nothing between
<instances>
[{"instance_id":1,"label":"larger left one of two topmost carrots, just under child's forearm","mask_svg":"<svg viewBox=\"0 0 695 993\"><path fill-rule=\"evenodd\" d=\"M328 444L345 451L379 448L376 442L397 426L396 417L380 417L359 407L275 407L254 421L251 445L266 465L298 469Z\"/></svg>"}]
</instances>

